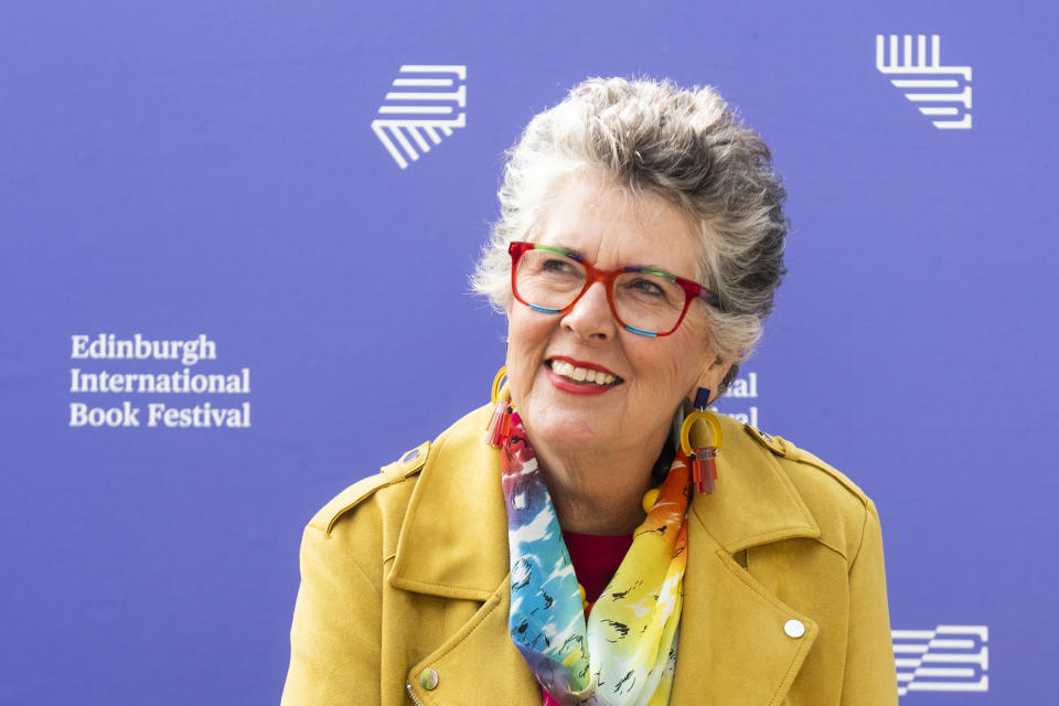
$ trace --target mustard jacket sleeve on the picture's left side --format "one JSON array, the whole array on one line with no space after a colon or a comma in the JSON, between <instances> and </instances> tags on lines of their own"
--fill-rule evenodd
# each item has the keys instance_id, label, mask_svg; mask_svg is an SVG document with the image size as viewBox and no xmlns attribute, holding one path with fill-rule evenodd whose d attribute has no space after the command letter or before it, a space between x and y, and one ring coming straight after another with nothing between
<instances>
[{"instance_id":1,"label":"mustard jacket sleeve on the picture's left side","mask_svg":"<svg viewBox=\"0 0 1059 706\"><path fill-rule=\"evenodd\" d=\"M365 560L378 543L349 530L306 527L282 706L379 703L382 563Z\"/></svg>"}]
</instances>

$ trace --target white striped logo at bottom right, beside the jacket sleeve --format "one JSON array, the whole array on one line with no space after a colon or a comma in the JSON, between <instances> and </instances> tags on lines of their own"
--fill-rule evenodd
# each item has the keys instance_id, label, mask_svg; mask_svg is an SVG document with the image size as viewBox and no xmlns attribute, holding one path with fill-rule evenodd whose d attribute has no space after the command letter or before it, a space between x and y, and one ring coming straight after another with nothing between
<instances>
[{"instance_id":1,"label":"white striped logo at bottom right, beside the jacket sleeve","mask_svg":"<svg viewBox=\"0 0 1059 706\"><path fill-rule=\"evenodd\" d=\"M938 625L934 630L892 630L897 693L987 692L990 629Z\"/></svg>"}]
</instances>

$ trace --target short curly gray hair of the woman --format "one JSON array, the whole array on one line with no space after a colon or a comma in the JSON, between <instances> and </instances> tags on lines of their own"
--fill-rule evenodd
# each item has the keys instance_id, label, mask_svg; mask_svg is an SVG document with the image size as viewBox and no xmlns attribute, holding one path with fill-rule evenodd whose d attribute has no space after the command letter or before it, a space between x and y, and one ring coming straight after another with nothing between
<instances>
[{"instance_id":1,"label":"short curly gray hair of the woman","mask_svg":"<svg viewBox=\"0 0 1059 706\"><path fill-rule=\"evenodd\" d=\"M513 299L509 244L532 239L569 174L600 174L634 196L660 195L697 226L699 281L720 302L704 307L714 349L732 363L726 387L760 339L785 272L787 192L769 148L710 87L624 78L575 86L507 152L500 220L471 278L498 310Z\"/></svg>"}]
</instances>

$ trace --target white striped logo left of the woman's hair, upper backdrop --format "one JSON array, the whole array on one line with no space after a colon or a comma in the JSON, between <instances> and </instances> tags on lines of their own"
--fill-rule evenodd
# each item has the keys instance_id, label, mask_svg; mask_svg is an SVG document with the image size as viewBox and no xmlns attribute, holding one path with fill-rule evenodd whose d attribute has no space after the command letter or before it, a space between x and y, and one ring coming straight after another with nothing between
<instances>
[{"instance_id":1,"label":"white striped logo left of the woman's hair, upper backdrop","mask_svg":"<svg viewBox=\"0 0 1059 706\"><path fill-rule=\"evenodd\" d=\"M405 169L408 160L419 159L419 152L429 152L430 142L439 145L439 131L449 137L452 128L467 125L463 110L456 113L457 107L467 107L464 81L467 66L405 64L400 67L392 84L396 90L386 94L385 103L378 108L379 117L372 120L372 130L398 167Z\"/></svg>"}]
</instances>

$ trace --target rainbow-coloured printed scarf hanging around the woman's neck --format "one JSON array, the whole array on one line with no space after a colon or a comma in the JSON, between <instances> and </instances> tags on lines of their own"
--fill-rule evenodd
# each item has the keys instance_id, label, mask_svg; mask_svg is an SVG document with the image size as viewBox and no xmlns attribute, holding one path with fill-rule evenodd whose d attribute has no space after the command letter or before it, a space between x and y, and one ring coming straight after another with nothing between
<instances>
[{"instance_id":1,"label":"rainbow-coloured printed scarf hanging around the woman's neck","mask_svg":"<svg viewBox=\"0 0 1059 706\"><path fill-rule=\"evenodd\" d=\"M564 706L668 704L687 563L687 457L677 451L654 507L586 621L563 531L517 413L501 441L515 646Z\"/></svg>"}]
</instances>

